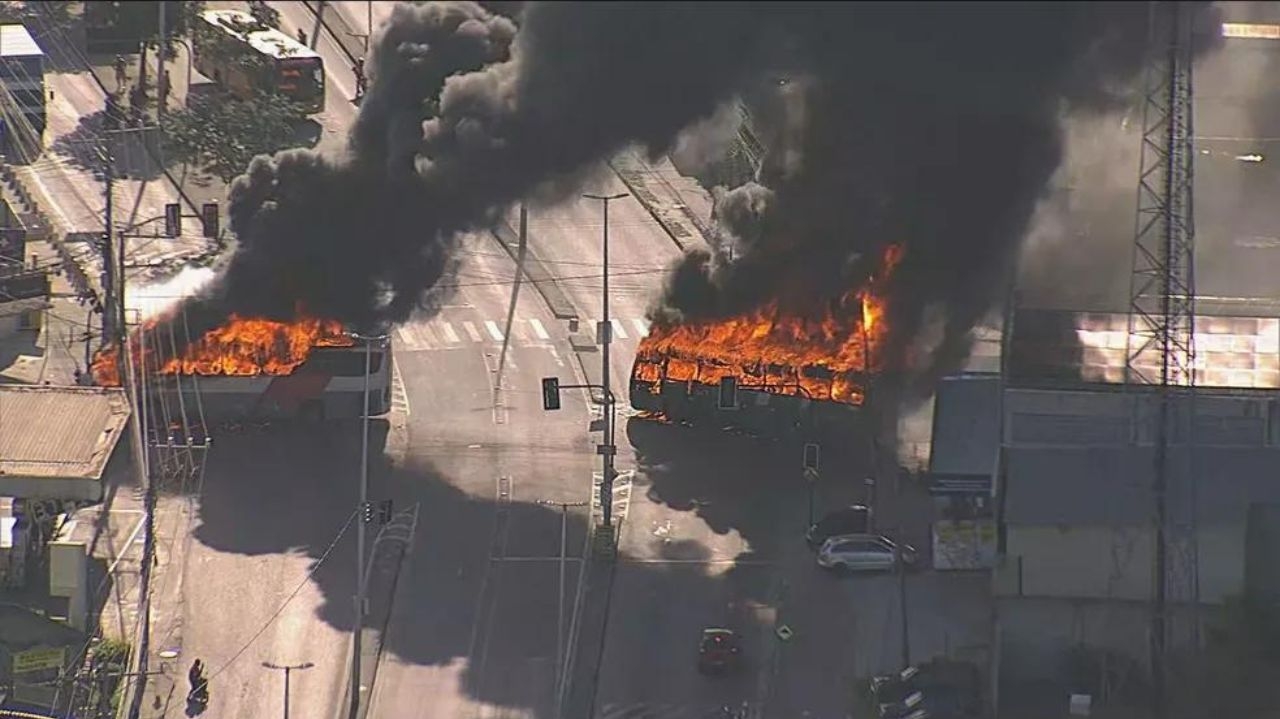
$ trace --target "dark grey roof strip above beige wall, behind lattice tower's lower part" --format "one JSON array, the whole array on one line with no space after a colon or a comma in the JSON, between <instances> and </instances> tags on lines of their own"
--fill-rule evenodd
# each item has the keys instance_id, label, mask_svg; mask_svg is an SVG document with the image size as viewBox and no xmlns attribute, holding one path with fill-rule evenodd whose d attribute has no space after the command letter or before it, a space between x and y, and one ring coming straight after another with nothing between
<instances>
[{"instance_id":1,"label":"dark grey roof strip above beige wall, behind lattice tower's lower part","mask_svg":"<svg viewBox=\"0 0 1280 719\"><path fill-rule=\"evenodd\" d=\"M1151 446L1010 449L1005 521L1010 525L1133 526L1152 522ZM1249 504L1280 502L1276 448L1172 448L1170 522L1190 518L1189 472L1199 522L1244 523Z\"/></svg>"}]
</instances>

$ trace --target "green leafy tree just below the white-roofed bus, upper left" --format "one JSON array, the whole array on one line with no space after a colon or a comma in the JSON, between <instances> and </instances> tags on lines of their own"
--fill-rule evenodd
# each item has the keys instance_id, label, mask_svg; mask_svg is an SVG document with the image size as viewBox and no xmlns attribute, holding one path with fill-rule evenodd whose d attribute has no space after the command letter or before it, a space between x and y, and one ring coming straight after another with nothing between
<instances>
[{"instance_id":1,"label":"green leafy tree just below the white-roofed bus, upper left","mask_svg":"<svg viewBox=\"0 0 1280 719\"><path fill-rule=\"evenodd\" d=\"M294 127L302 118L297 105L274 93L253 100L192 99L188 107L165 118L165 155L230 182L253 157L297 145Z\"/></svg>"}]
</instances>

